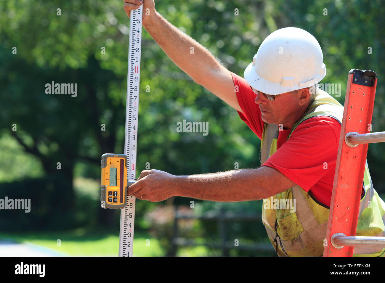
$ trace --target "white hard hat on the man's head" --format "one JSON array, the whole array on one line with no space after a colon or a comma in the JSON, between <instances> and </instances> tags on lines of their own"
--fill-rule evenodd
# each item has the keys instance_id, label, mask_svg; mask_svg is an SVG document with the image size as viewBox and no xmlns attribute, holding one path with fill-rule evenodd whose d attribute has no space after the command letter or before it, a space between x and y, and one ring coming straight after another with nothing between
<instances>
[{"instance_id":1,"label":"white hard hat on the man's head","mask_svg":"<svg viewBox=\"0 0 385 283\"><path fill-rule=\"evenodd\" d=\"M281 28L266 37L243 74L254 89L271 95L310 87L325 75L320 44L296 27Z\"/></svg>"}]
</instances>

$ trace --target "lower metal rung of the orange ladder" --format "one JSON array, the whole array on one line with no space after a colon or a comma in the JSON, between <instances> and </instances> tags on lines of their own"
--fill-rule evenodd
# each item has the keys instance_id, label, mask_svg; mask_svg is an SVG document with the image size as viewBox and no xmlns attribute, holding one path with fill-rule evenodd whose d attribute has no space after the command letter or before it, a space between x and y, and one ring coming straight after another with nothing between
<instances>
[{"instance_id":1,"label":"lower metal rung of the orange ladder","mask_svg":"<svg viewBox=\"0 0 385 283\"><path fill-rule=\"evenodd\" d=\"M333 246L342 248L350 247L385 247L385 237L367 237L367 236L334 236L331 238Z\"/></svg>"}]
</instances>

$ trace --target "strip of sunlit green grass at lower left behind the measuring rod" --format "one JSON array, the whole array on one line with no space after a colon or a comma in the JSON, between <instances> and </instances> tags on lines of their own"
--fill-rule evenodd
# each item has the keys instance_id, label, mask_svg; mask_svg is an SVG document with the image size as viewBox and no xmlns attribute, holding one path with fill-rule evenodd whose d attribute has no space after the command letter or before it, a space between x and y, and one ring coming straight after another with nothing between
<instances>
[{"instance_id":1,"label":"strip of sunlit green grass at lower left behind the measuring rod","mask_svg":"<svg viewBox=\"0 0 385 283\"><path fill-rule=\"evenodd\" d=\"M76 229L23 234L0 233L1 238L12 239L18 243L37 244L65 253L67 256L117 256L119 250L119 232L112 235ZM157 239L149 237L146 233L136 232L133 253L134 256L164 256L165 251Z\"/></svg>"}]
</instances>

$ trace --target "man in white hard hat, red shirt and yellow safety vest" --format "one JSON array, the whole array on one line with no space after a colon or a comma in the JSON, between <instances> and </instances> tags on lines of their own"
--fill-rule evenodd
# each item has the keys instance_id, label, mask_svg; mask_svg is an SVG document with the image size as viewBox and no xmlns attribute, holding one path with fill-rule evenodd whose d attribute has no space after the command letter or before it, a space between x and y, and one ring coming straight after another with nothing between
<instances>
[{"instance_id":1,"label":"man in white hard hat, red shirt and yellow safety vest","mask_svg":"<svg viewBox=\"0 0 385 283\"><path fill-rule=\"evenodd\" d=\"M129 16L142 4L124 0L123 7ZM242 78L154 6L153 0L144 0L143 27L194 82L236 109L261 139L261 167L190 176L145 170L128 193L148 201L263 199L262 222L279 256L322 256L343 106L317 87L326 75L317 40L300 28L276 30ZM357 236L385 236L384 214L385 203L373 189L366 164ZM355 247L353 254L384 256L385 248Z\"/></svg>"}]
</instances>

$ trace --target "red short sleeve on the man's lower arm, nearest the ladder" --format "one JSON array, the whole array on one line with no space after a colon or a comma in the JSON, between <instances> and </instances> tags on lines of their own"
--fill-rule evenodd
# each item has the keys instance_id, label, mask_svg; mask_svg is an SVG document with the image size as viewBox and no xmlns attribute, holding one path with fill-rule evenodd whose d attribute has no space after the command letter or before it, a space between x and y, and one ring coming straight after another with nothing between
<instances>
[{"instance_id":1,"label":"red short sleeve on the man's lower arm, nearest the ladder","mask_svg":"<svg viewBox=\"0 0 385 283\"><path fill-rule=\"evenodd\" d=\"M262 166L277 169L309 191L326 174L334 176L340 129L334 118L310 118L298 125L288 141Z\"/></svg>"}]
</instances>

